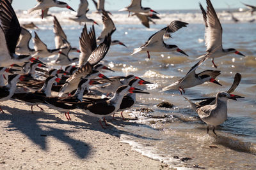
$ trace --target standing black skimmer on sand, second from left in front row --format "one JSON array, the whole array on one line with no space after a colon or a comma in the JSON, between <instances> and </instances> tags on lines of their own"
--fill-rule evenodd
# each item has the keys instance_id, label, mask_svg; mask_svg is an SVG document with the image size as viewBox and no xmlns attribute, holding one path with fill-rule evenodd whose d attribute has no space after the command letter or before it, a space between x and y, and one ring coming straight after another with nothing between
<instances>
[{"instance_id":1,"label":"standing black skimmer on sand, second from left in front row","mask_svg":"<svg viewBox=\"0 0 256 170\"><path fill-rule=\"evenodd\" d=\"M15 93L13 94L12 98L19 101L24 101L26 104L31 106L31 111L33 113L33 106L38 106L38 104L44 104L41 96L52 96L52 84L56 81L61 81L61 79L57 78L56 76L49 76L45 79L42 89L36 90L35 92ZM38 106L38 108L40 107ZM40 108L40 110L44 111L42 108Z\"/></svg>"}]
</instances>

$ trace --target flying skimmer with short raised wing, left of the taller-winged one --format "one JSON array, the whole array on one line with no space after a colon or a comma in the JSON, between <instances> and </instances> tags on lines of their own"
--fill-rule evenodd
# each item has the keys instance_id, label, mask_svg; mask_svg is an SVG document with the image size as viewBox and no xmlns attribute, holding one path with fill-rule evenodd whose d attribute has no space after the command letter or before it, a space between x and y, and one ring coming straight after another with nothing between
<instances>
[{"instance_id":1,"label":"flying skimmer with short raised wing, left of the taller-winged one","mask_svg":"<svg viewBox=\"0 0 256 170\"><path fill-rule=\"evenodd\" d=\"M47 45L43 43L43 41L38 37L35 32L35 38L33 38L35 53L32 55L33 57L49 57L51 55L57 55L61 53L66 55L65 53L61 52L62 49L67 48L67 46L63 48L56 48L56 49L48 49Z\"/></svg>"}]
</instances>

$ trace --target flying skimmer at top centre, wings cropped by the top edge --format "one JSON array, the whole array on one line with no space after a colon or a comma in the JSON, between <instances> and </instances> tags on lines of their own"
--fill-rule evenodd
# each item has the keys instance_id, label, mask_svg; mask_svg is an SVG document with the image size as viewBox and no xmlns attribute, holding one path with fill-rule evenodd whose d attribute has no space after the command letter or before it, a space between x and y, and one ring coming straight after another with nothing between
<instances>
[{"instance_id":1,"label":"flying skimmer at top centre, wings cropped by the top edge","mask_svg":"<svg viewBox=\"0 0 256 170\"><path fill-rule=\"evenodd\" d=\"M130 17L130 12L134 12L134 13L157 13L156 11L152 10L151 8L144 8L141 6L141 0L132 0L131 4L121 10L118 11L129 11L129 15L128 17ZM159 14L159 13L157 13Z\"/></svg>"}]
</instances>

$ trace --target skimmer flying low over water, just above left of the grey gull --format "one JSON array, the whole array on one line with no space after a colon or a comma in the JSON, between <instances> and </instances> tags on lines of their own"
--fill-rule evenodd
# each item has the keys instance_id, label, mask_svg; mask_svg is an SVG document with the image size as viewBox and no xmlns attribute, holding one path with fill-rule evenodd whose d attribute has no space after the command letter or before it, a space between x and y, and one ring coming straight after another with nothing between
<instances>
[{"instance_id":1,"label":"skimmer flying low over water, just above left of the grey gull","mask_svg":"<svg viewBox=\"0 0 256 170\"><path fill-rule=\"evenodd\" d=\"M217 48L216 48L217 49ZM215 49L215 50L216 50ZM216 76L220 75L220 71L214 71L214 70L205 70L201 73L196 74L196 68L202 64L206 59L211 57L211 54L215 52L213 50L211 53L207 53L203 59L201 59L199 62L195 64L195 66L191 67L191 69L188 71L186 76L184 78L181 78L180 80L176 81L175 83L172 83L171 85L168 85L167 87L164 87L161 92L164 92L166 90L179 90L180 94L185 93L184 89L195 87L196 85L200 85L206 81L216 83L218 85L221 85L218 81L216 81L214 78Z\"/></svg>"}]
</instances>

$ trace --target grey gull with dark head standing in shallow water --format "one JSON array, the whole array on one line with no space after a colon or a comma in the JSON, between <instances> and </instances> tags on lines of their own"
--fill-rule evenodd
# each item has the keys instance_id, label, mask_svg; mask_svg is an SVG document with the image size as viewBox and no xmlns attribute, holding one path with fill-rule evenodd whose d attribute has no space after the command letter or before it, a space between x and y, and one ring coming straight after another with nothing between
<instances>
[{"instance_id":1,"label":"grey gull with dark head standing in shallow water","mask_svg":"<svg viewBox=\"0 0 256 170\"><path fill-rule=\"evenodd\" d=\"M227 120L227 100L236 100L239 96L234 94L228 94L227 92L218 92L216 94L216 103L212 105L198 106L197 104L189 101L184 97L192 106L193 110L198 113L198 116L207 124L207 134L209 132L209 125L213 126L212 132L215 133L215 127L222 124Z\"/></svg>"}]
</instances>

